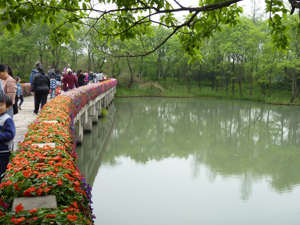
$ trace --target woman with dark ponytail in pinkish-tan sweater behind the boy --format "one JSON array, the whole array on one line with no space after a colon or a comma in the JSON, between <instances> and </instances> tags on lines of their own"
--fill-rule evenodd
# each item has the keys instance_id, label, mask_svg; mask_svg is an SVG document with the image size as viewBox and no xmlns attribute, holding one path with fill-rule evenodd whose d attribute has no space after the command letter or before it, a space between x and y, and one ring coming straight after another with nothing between
<instances>
[{"instance_id":1,"label":"woman with dark ponytail in pinkish-tan sweater behind the boy","mask_svg":"<svg viewBox=\"0 0 300 225\"><path fill-rule=\"evenodd\" d=\"M1 83L2 83L4 93L11 98L14 104L15 97L16 97L17 82L13 78L13 70L9 66L0 64L0 79L2 79ZM7 110L7 114L11 118L13 118L13 107L10 107Z\"/></svg>"}]
</instances>

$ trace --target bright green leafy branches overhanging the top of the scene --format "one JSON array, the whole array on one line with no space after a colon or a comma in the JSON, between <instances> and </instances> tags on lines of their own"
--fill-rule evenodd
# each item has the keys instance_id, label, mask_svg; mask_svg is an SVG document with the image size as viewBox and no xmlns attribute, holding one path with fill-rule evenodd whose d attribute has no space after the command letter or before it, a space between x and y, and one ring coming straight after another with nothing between
<instances>
[{"instance_id":1,"label":"bright green leafy branches overhanging the top of the scene","mask_svg":"<svg viewBox=\"0 0 300 225\"><path fill-rule=\"evenodd\" d=\"M271 27L273 49L282 50L285 54L290 47L289 35L290 26L283 25L282 20L287 19L288 10L285 9L283 1L265 0L267 10L270 13L268 24ZM100 1L102 4L116 4L116 9L101 11L96 9L89 0L63 0L45 3L42 0L36 1L1 1L0 20L4 21L1 31L15 36L22 26L33 26L34 24L52 26L48 40L51 47L59 47L61 44L68 44L74 40L75 32L87 27L86 35L94 36L92 39L95 46L99 46L102 52L114 54L109 49L103 49L104 44L110 45L116 39L122 42L138 40L139 36L153 37L155 35L152 22L159 27L164 26L170 31L170 35L163 38L152 48L144 48L142 52L134 55L147 55L155 52L162 44L172 36L176 36L181 44L184 54L189 57L188 63L195 63L197 60L202 63L203 56L199 53L203 41L214 36L215 32L236 28L242 7L230 1L199 1L197 7L174 8L168 1L135 1L130 0L124 4L120 0ZM177 7L177 5L176 5ZM94 17L90 16L90 13ZM175 16L175 12L186 14L183 20ZM155 15L160 13L157 19ZM280 13L282 16L280 16ZM147 16L144 16L147 15ZM85 35L84 35L85 37ZM101 44L102 42L102 44ZM125 51L125 56L132 53Z\"/></svg>"}]
</instances>

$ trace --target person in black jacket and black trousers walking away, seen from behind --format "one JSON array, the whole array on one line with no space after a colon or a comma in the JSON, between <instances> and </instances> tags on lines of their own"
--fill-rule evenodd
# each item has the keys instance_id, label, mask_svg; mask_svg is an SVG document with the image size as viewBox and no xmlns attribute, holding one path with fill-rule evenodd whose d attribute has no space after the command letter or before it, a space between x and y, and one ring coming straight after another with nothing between
<instances>
[{"instance_id":1,"label":"person in black jacket and black trousers walking away, seen from behind","mask_svg":"<svg viewBox=\"0 0 300 225\"><path fill-rule=\"evenodd\" d=\"M37 67L38 73L32 77L31 94L35 97L35 110L33 114L38 115L38 109L41 103L41 109L47 103L47 96L50 90L50 79L43 70L42 66ZM54 73L54 71L53 71Z\"/></svg>"}]
</instances>

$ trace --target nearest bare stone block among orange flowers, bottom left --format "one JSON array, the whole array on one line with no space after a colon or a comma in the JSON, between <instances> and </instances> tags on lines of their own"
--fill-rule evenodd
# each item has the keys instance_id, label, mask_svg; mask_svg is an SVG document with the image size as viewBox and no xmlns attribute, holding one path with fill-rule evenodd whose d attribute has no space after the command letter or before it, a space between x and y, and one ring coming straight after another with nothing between
<instances>
[{"instance_id":1,"label":"nearest bare stone block among orange flowers, bottom left","mask_svg":"<svg viewBox=\"0 0 300 225\"><path fill-rule=\"evenodd\" d=\"M55 195L46 196L31 196L31 197L21 197L13 199L13 205L11 207L11 212L16 211L15 207L22 203L25 211L29 211L34 208L46 207L47 209L54 210L57 208L57 200Z\"/></svg>"}]
</instances>

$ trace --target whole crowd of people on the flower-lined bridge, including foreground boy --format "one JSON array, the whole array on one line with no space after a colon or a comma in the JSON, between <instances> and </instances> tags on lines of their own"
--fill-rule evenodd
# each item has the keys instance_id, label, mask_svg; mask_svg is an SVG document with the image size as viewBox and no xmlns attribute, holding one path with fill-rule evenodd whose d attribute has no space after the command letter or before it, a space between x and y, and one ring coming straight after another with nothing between
<instances>
[{"instance_id":1,"label":"whole crowd of people on the flower-lined bridge, including foreground boy","mask_svg":"<svg viewBox=\"0 0 300 225\"><path fill-rule=\"evenodd\" d=\"M68 91L107 80L106 73L101 71L88 73L79 69L76 73L75 70L67 68L60 72L52 66L46 73L40 62L37 62L35 67L31 70L30 76L31 94L34 95L32 113L35 115L38 115L39 109L47 103L49 93L52 99L60 94L61 88ZM22 110L24 101L20 82L21 78L13 77L13 70L9 66L0 64L0 184L9 163L10 152L13 150L13 139L16 134L13 115Z\"/></svg>"}]
</instances>

